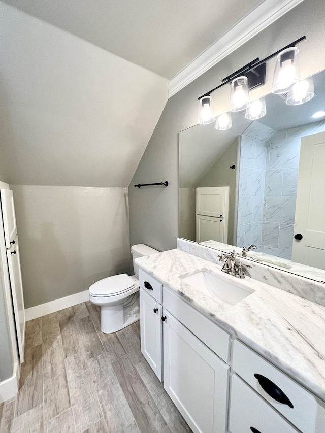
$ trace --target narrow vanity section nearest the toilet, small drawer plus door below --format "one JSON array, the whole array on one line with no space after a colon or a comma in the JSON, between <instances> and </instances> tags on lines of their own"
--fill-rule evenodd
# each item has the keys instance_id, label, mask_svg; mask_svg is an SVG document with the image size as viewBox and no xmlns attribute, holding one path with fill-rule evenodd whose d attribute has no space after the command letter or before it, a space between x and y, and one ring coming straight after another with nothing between
<instances>
[{"instance_id":1,"label":"narrow vanity section nearest the toilet, small drawer plus door below","mask_svg":"<svg viewBox=\"0 0 325 433\"><path fill-rule=\"evenodd\" d=\"M141 352L157 378L163 380L163 285L139 270Z\"/></svg>"}]
</instances>

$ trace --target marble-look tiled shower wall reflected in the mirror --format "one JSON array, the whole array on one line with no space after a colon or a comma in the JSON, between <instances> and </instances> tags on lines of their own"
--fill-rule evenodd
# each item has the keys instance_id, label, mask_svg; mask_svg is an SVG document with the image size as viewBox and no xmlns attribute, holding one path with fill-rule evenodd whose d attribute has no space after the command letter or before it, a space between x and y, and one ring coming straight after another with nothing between
<instances>
[{"instance_id":1,"label":"marble-look tiled shower wall reflected in the mirror","mask_svg":"<svg viewBox=\"0 0 325 433\"><path fill-rule=\"evenodd\" d=\"M291 259L301 137L324 131L325 121L279 132L257 124L242 136L237 246Z\"/></svg>"}]
</instances>

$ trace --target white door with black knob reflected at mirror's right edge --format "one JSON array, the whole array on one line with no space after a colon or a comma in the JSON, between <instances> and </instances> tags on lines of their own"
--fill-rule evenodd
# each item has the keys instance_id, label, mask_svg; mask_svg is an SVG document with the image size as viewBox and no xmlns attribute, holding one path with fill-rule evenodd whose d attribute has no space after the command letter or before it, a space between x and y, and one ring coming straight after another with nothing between
<instances>
[{"instance_id":1,"label":"white door with black knob reflected at mirror's right edge","mask_svg":"<svg viewBox=\"0 0 325 433\"><path fill-rule=\"evenodd\" d=\"M324 162L325 132L303 137L292 259L320 269L325 269Z\"/></svg>"}]
</instances>

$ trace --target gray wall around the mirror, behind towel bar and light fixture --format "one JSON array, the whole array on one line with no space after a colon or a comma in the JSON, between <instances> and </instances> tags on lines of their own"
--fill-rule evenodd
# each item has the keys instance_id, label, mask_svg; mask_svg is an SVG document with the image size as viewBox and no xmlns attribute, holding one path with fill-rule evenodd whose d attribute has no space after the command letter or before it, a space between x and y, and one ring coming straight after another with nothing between
<instances>
[{"instance_id":1,"label":"gray wall around the mirror, behind towel bar and light fixture","mask_svg":"<svg viewBox=\"0 0 325 433\"><path fill-rule=\"evenodd\" d=\"M299 45L301 76L321 71L325 68L324 21L323 0L302 2L169 99L129 186L131 245L145 243L158 250L176 246L179 194L177 134L197 123L198 97L249 60L257 56L266 57L303 35L307 40ZM273 68L274 61L270 61L267 84L259 90L261 94L262 90L269 92ZM133 186L139 182L165 180L170 183L167 188L139 189Z\"/></svg>"}]
</instances>

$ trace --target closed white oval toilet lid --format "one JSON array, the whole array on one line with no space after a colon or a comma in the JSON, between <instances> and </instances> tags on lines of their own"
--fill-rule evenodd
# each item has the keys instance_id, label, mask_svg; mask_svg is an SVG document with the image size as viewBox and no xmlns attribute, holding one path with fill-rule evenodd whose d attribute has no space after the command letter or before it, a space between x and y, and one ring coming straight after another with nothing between
<instances>
[{"instance_id":1,"label":"closed white oval toilet lid","mask_svg":"<svg viewBox=\"0 0 325 433\"><path fill-rule=\"evenodd\" d=\"M126 274L113 275L92 284L89 293L93 296L113 296L126 292L135 285L135 281Z\"/></svg>"}]
</instances>

